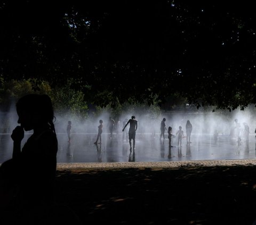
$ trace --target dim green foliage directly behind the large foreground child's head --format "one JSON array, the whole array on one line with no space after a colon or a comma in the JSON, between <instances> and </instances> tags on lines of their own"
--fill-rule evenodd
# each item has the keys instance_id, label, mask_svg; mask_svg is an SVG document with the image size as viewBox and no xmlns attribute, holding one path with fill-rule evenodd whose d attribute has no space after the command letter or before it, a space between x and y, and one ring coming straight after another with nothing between
<instances>
[{"instance_id":1,"label":"dim green foliage directly behind the large foreground child's head","mask_svg":"<svg viewBox=\"0 0 256 225\"><path fill-rule=\"evenodd\" d=\"M26 94L47 94L52 98L55 113L69 114L85 119L88 107L82 91L74 90L70 84L52 89L49 82L39 79L0 80L2 110Z\"/></svg>"}]
</instances>

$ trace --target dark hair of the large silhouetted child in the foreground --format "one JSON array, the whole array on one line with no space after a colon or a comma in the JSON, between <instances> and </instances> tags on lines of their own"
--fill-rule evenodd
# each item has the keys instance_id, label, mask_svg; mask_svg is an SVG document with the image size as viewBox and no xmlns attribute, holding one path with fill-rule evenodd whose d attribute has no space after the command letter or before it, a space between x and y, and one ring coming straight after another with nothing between
<instances>
[{"instance_id":1,"label":"dark hair of the large silhouetted child in the foreground","mask_svg":"<svg viewBox=\"0 0 256 225\"><path fill-rule=\"evenodd\" d=\"M53 106L48 95L28 94L21 97L16 103L17 112L25 111L35 115L40 115L42 122L49 124L50 129L55 132L53 120Z\"/></svg>"}]
</instances>

